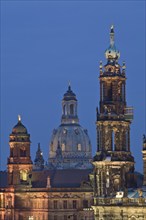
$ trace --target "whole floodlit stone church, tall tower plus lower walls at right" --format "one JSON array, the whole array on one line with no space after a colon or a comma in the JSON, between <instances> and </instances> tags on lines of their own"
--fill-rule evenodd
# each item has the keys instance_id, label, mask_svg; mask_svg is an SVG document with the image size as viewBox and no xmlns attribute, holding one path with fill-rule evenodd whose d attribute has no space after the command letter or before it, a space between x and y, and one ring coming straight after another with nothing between
<instances>
[{"instance_id":1,"label":"whole floodlit stone church, tall tower plus lower walls at right","mask_svg":"<svg viewBox=\"0 0 146 220\"><path fill-rule=\"evenodd\" d=\"M130 151L132 108L126 103L125 63L118 63L114 28L105 52L107 64L100 62L100 103L97 109L97 153L91 175L95 220L146 219L146 140L143 144L144 183L137 188L134 158ZM136 189L137 188L137 189Z\"/></svg>"}]
</instances>

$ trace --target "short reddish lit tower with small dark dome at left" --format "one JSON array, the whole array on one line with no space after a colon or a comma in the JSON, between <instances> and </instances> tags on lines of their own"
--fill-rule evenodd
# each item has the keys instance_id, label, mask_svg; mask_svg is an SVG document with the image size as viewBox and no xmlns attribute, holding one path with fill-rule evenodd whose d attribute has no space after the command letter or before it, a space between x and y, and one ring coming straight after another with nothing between
<instances>
[{"instance_id":1,"label":"short reddish lit tower with small dark dome at left","mask_svg":"<svg viewBox=\"0 0 146 220\"><path fill-rule=\"evenodd\" d=\"M10 155L8 158L8 184L13 186L29 185L32 172L30 157L30 135L18 116L18 123L10 134Z\"/></svg>"}]
</instances>

